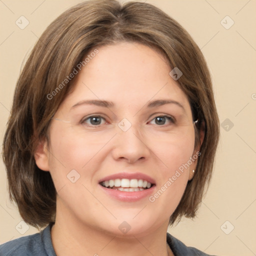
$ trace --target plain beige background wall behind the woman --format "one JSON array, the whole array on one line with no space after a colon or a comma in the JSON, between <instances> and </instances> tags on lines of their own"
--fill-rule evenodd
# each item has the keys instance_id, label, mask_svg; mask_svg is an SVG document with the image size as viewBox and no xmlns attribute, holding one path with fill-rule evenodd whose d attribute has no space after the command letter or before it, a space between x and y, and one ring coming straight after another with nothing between
<instances>
[{"instance_id":1,"label":"plain beige background wall behind the woman","mask_svg":"<svg viewBox=\"0 0 256 256\"><path fill-rule=\"evenodd\" d=\"M256 1L146 1L162 8L192 35L213 77L220 122L228 118L233 123L233 127L222 124L215 171L198 217L183 218L169 232L209 254L256 255ZM46 26L78 2L0 0L0 141L23 59ZM21 15L29 21L23 30L15 24ZM222 26L231 24L229 18L220 22L226 15L234 21L229 29ZM29 227L20 234L15 228L21 218L8 201L2 159L0 195L0 243L36 232Z\"/></svg>"}]
</instances>

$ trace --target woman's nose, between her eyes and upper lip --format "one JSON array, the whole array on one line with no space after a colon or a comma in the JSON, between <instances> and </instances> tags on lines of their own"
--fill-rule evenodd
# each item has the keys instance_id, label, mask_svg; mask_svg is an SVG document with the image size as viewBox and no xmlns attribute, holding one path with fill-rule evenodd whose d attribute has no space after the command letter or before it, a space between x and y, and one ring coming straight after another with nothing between
<instances>
[{"instance_id":1,"label":"woman's nose, between her eyes and upper lip","mask_svg":"<svg viewBox=\"0 0 256 256\"><path fill-rule=\"evenodd\" d=\"M112 157L119 161L128 163L142 161L150 156L148 141L134 125L123 131L117 127L117 134L114 136Z\"/></svg>"}]
</instances>

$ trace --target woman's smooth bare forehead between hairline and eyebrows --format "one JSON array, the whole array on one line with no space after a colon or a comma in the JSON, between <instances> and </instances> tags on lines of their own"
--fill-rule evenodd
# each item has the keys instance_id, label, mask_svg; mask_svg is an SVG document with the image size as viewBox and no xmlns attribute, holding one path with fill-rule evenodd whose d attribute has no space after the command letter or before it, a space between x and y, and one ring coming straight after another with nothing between
<instances>
[{"instance_id":1,"label":"woman's smooth bare forehead between hairline and eyebrows","mask_svg":"<svg viewBox=\"0 0 256 256\"><path fill-rule=\"evenodd\" d=\"M120 42L97 50L77 74L72 93L66 99L70 104L102 99L128 106L164 98L189 107L186 95L169 75L171 68L165 56L155 49Z\"/></svg>"}]
</instances>

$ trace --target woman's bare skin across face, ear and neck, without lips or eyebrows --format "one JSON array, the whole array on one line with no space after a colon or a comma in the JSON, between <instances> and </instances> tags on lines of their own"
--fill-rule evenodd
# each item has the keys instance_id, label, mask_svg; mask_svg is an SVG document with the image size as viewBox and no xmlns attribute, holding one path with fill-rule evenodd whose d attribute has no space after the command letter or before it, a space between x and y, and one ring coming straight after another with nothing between
<instances>
[{"instance_id":1,"label":"woman's bare skin across face, ear and neck, without lips or eyebrows","mask_svg":"<svg viewBox=\"0 0 256 256\"><path fill-rule=\"evenodd\" d=\"M57 191L54 250L60 256L173 255L166 245L168 219L193 176L196 160L154 202L148 196L120 201L100 189L98 180L139 171L156 181L152 195L160 189L197 151L188 99L169 75L164 56L152 48L119 42L98 50L56 111L50 144L41 141L34 155L37 166L50 171ZM86 99L112 101L114 106L72 107ZM146 107L156 99L175 100L183 107ZM98 126L86 119L91 115L103 117ZM155 117L162 115L176 122L157 123ZM124 117L131 123L127 131L117 125ZM72 169L80 175L74 183L67 178ZM125 234L118 228L123 221L131 227Z\"/></svg>"}]
</instances>

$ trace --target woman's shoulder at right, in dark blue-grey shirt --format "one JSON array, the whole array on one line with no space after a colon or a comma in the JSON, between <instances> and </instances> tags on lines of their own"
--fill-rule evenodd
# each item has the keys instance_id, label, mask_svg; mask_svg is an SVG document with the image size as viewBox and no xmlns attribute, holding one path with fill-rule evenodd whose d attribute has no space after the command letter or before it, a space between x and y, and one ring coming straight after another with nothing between
<instances>
[{"instance_id":1,"label":"woman's shoulder at right, in dark blue-grey shirt","mask_svg":"<svg viewBox=\"0 0 256 256\"><path fill-rule=\"evenodd\" d=\"M167 233L167 243L170 246L175 256L213 256L204 253L194 247L187 247L183 242L173 237L171 234Z\"/></svg>"}]
</instances>

